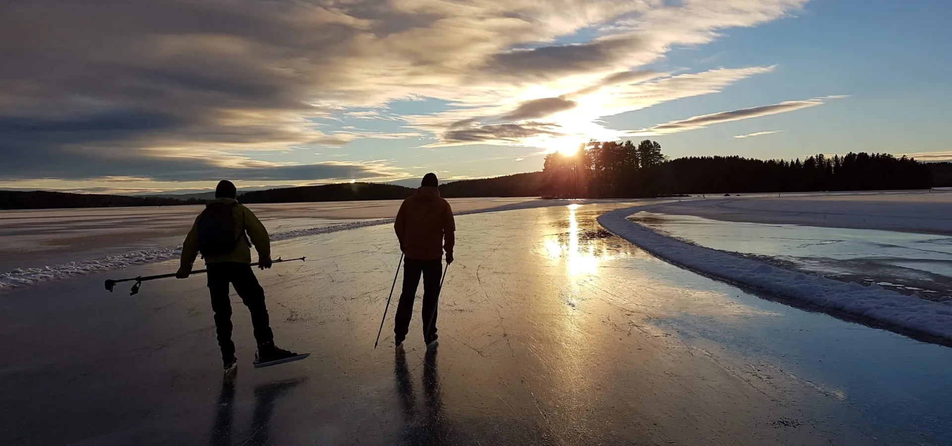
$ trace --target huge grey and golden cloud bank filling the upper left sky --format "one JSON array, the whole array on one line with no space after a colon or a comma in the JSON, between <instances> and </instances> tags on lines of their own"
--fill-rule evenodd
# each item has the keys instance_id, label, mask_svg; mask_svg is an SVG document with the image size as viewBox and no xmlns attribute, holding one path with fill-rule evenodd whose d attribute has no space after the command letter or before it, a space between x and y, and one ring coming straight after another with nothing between
<instances>
[{"instance_id":1,"label":"huge grey and golden cloud bank filling the upper left sky","mask_svg":"<svg viewBox=\"0 0 952 446\"><path fill-rule=\"evenodd\" d=\"M400 119L375 107L423 98L448 106L413 126L447 145L617 135L600 113L658 104L651 87L664 100L704 94L639 68L805 2L13 2L0 14L0 178L151 178L346 145L380 128L334 132L317 118L372 125ZM551 126L524 122L539 119Z\"/></svg>"}]
</instances>

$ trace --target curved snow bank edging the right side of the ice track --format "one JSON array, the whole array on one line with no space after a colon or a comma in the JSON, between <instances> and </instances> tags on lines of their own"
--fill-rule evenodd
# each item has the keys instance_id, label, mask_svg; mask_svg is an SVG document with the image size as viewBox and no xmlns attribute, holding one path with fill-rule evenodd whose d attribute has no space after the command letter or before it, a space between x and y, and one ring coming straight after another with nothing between
<instances>
[{"instance_id":1,"label":"curved snow bank edging the right side of the ice track","mask_svg":"<svg viewBox=\"0 0 952 446\"><path fill-rule=\"evenodd\" d=\"M819 307L842 310L869 320L877 320L944 339L952 339L952 302L937 303L883 289L873 283L806 275L745 259L704 246L663 236L627 220L639 210L635 206L606 212L598 218L608 231L641 246L645 251L686 268L726 281L763 289Z\"/></svg>"}]
</instances>

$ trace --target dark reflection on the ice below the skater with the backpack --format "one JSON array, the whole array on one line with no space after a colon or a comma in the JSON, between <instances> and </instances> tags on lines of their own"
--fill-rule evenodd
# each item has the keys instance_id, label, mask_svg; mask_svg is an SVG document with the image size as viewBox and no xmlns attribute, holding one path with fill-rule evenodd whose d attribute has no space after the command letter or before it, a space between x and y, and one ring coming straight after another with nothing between
<instances>
[{"instance_id":1,"label":"dark reflection on the ice below the skater with the backpack","mask_svg":"<svg viewBox=\"0 0 952 446\"><path fill-rule=\"evenodd\" d=\"M254 416L251 417L251 434L241 444L267 444L270 436L271 416L274 412L274 403L278 398L285 396L288 391L305 381L305 378L296 378L289 381L262 384L254 388ZM218 394L218 408L215 413L215 422L211 428L212 446L230 446L231 431L234 417L235 379L222 379L222 391Z\"/></svg>"}]
</instances>

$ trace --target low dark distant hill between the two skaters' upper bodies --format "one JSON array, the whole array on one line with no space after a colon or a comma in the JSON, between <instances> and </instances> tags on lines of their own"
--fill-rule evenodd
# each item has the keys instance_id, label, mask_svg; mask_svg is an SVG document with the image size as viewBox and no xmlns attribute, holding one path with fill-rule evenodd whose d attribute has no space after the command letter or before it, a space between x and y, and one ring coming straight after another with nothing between
<instances>
[{"instance_id":1,"label":"low dark distant hill between the two skaters' upper bodies","mask_svg":"<svg viewBox=\"0 0 952 446\"><path fill-rule=\"evenodd\" d=\"M413 194L396 184L343 183L253 190L241 196L242 203L349 202L357 200L403 200Z\"/></svg>"}]
</instances>

